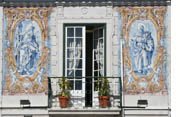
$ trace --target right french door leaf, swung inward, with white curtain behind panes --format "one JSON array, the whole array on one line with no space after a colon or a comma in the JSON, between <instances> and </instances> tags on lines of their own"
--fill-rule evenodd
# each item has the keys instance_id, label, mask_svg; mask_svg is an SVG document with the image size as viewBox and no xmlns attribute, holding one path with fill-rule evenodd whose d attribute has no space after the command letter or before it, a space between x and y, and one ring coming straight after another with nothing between
<instances>
[{"instance_id":1,"label":"right french door leaf, swung inward, with white curtain behind panes","mask_svg":"<svg viewBox=\"0 0 180 117\"><path fill-rule=\"evenodd\" d=\"M98 79L105 76L105 28L98 27L93 32L93 106L99 105Z\"/></svg>"}]
</instances>

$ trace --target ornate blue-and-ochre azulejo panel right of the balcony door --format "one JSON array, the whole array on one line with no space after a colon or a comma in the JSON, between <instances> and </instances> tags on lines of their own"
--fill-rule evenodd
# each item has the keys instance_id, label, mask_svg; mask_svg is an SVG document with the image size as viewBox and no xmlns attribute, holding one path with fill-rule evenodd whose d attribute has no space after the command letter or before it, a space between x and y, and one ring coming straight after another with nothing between
<instances>
[{"instance_id":1,"label":"ornate blue-and-ochre azulejo panel right of the balcony door","mask_svg":"<svg viewBox=\"0 0 180 117\"><path fill-rule=\"evenodd\" d=\"M166 7L121 7L123 77L126 94L167 94ZM165 40L167 41L167 40Z\"/></svg>"}]
</instances>

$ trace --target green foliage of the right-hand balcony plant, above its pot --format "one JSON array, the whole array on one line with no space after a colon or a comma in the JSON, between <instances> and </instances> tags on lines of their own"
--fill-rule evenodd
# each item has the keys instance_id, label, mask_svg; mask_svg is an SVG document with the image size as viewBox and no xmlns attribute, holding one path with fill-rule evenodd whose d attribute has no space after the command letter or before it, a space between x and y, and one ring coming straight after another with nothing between
<instances>
[{"instance_id":1,"label":"green foliage of the right-hand balcony plant, above its pot","mask_svg":"<svg viewBox=\"0 0 180 117\"><path fill-rule=\"evenodd\" d=\"M99 96L109 96L110 86L106 77L99 79Z\"/></svg>"}]
</instances>

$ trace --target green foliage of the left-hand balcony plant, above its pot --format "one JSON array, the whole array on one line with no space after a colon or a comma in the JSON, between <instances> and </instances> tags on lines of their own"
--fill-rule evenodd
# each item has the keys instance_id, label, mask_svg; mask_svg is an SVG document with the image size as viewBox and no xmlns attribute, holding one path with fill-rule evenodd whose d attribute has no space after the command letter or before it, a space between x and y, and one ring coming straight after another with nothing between
<instances>
[{"instance_id":1,"label":"green foliage of the left-hand balcony plant, above its pot","mask_svg":"<svg viewBox=\"0 0 180 117\"><path fill-rule=\"evenodd\" d=\"M62 77L59 80L59 88L61 90L59 93L59 96L70 98L70 91L69 90L71 89L71 86L70 86L70 82L67 78Z\"/></svg>"}]
</instances>

